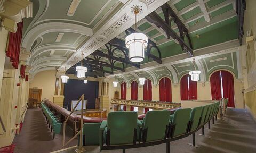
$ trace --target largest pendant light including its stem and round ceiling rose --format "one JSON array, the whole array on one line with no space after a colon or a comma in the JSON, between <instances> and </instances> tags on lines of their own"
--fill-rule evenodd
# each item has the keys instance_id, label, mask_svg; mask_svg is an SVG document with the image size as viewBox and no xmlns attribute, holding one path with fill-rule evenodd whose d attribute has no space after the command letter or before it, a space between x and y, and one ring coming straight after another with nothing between
<instances>
[{"instance_id":1,"label":"largest pendant light including its stem and round ceiling rose","mask_svg":"<svg viewBox=\"0 0 256 153\"><path fill-rule=\"evenodd\" d=\"M135 15L135 31L125 38L125 46L129 49L129 58L131 62L141 62L144 60L145 47L148 46L148 37L136 32L139 21L139 13L142 11L140 5L134 5L131 10Z\"/></svg>"}]
</instances>

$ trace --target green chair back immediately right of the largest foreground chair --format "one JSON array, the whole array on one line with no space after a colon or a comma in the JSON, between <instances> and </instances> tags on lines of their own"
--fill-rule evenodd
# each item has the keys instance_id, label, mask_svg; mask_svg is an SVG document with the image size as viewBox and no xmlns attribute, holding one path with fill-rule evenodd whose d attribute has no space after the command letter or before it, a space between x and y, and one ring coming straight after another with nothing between
<instances>
[{"instance_id":1,"label":"green chair back immediately right of the largest foreground chair","mask_svg":"<svg viewBox=\"0 0 256 153\"><path fill-rule=\"evenodd\" d=\"M148 111L143 120L142 142L164 140L169 129L170 111Z\"/></svg>"}]
</instances>

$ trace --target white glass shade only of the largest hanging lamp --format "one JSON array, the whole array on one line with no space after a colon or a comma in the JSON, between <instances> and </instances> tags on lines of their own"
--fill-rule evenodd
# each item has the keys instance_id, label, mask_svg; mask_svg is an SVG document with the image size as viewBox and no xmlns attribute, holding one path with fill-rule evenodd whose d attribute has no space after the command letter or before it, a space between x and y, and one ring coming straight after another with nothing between
<instances>
[{"instance_id":1,"label":"white glass shade only of the largest hanging lamp","mask_svg":"<svg viewBox=\"0 0 256 153\"><path fill-rule=\"evenodd\" d=\"M131 62L141 62L145 57L148 37L143 33L132 33L125 38L125 46L129 49Z\"/></svg>"}]
</instances>

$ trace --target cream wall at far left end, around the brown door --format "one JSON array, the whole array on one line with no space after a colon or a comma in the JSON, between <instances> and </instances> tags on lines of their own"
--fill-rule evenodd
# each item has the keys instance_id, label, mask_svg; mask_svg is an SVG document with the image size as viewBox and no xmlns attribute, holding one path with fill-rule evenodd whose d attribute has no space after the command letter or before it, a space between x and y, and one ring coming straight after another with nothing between
<instances>
[{"instance_id":1,"label":"cream wall at far left end, around the brown door","mask_svg":"<svg viewBox=\"0 0 256 153\"><path fill-rule=\"evenodd\" d=\"M30 82L29 88L42 89L41 99L49 99L53 101L53 96L55 92L55 81L56 81L56 71L42 71L35 75L33 82Z\"/></svg>"}]
</instances>

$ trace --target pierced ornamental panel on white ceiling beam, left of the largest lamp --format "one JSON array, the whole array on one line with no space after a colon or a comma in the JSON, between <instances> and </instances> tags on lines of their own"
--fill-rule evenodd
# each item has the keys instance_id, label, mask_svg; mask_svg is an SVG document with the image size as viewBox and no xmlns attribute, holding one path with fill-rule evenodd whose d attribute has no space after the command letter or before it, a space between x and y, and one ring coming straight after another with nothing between
<instances>
[{"instance_id":1,"label":"pierced ornamental panel on white ceiling beam, left of the largest lamp","mask_svg":"<svg viewBox=\"0 0 256 153\"><path fill-rule=\"evenodd\" d=\"M103 35L108 37L111 33L113 33L116 29L118 29L119 27L121 27L124 23L126 23L127 21L129 21L131 19L131 17L127 14L125 14L124 16L122 16L120 19L118 19L113 25L111 25L110 28L108 28Z\"/></svg>"}]
</instances>

